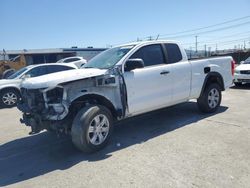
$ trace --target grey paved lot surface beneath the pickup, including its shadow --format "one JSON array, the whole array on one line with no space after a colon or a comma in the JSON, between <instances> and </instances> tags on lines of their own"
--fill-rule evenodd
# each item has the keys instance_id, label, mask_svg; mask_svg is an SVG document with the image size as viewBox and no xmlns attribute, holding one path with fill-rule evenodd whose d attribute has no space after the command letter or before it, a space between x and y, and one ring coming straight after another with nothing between
<instances>
[{"instance_id":1,"label":"grey paved lot surface beneath the pickup, including its shadow","mask_svg":"<svg viewBox=\"0 0 250 188\"><path fill-rule=\"evenodd\" d=\"M69 137L29 136L0 109L1 187L250 187L250 86L223 93L214 114L194 101L117 123L109 145L84 154Z\"/></svg>"}]
</instances>

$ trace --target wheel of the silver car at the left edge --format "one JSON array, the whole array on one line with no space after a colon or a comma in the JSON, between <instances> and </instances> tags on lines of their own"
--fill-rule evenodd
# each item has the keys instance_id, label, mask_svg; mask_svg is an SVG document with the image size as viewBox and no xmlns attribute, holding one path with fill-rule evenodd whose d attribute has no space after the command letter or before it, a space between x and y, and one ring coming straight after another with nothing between
<instances>
[{"instance_id":1,"label":"wheel of the silver car at the left edge","mask_svg":"<svg viewBox=\"0 0 250 188\"><path fill-rule=\"evenodd\" d=\"M11 108L17 105L20 93L15 89L4 89L0 92L0 106Z\"/></svg>"}]
</instances>

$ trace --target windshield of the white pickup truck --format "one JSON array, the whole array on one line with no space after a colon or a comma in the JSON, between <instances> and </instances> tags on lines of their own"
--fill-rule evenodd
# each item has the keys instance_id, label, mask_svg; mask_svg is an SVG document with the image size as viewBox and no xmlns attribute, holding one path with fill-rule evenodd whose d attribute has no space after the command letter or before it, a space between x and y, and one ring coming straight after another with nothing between
<instances>
[{"instance_id":1,"label":"windshield of the white pickup truck","mask_svg":"<svg viewBox=\"0 0 250 188\"><path fill-rule=\"evenodd\" d=\"M118 61L120 61L134 46L115 47L106 50L95 56L82 68L98 68L109 69L112 68Z\"/></svg>"}]
</instances>

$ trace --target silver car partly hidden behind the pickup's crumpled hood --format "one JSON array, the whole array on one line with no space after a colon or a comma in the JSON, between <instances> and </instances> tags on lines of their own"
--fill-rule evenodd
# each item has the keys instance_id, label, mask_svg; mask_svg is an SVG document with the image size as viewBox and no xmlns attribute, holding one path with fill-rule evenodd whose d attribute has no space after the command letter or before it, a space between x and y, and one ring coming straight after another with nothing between
<instances>
[{"instance_id":1,"label":"silver car partly hidden behind the pickup's crumpled hood","mask_svg":"<svg viewBox=\"0 0 250 188\"><path fill-rule=\"evenodd\" d=\"M24 67L7 79L0 80L0 106L6 108L16 105L20 98L20 84L23 79L77 68L76 65L71 63L50 63Z\"/></svg>"}]
</instances>

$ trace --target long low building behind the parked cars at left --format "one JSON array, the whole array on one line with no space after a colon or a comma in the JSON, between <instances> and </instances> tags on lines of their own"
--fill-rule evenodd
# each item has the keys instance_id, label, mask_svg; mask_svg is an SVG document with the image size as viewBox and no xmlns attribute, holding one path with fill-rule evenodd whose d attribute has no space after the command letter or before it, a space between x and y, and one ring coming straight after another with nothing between
<instances>
[{"instance_id":1,"label":"long low building behind the parked cars at left","mask_svg":"<svg viewBox=\"0 0 250 188\"><path fill-rule=\"evenodd\" d=\"M27 65L40 63L54 63L58 60L71 56L81 56L87 61L106 50L106 48L55 48L55 49L35 49L35 50L6 50L0 54L6 54L7 59L15 58L21 54L25 56ZM3 55L2 55L3 56ZM6 58L6 57L5 57Z\"/></svg>"}]
</instances>

